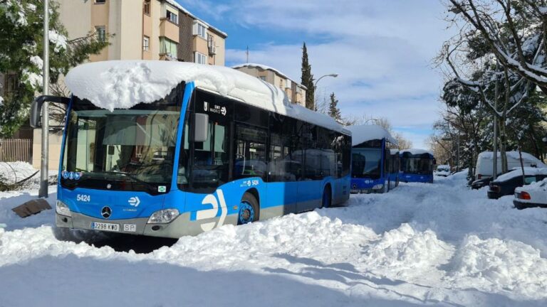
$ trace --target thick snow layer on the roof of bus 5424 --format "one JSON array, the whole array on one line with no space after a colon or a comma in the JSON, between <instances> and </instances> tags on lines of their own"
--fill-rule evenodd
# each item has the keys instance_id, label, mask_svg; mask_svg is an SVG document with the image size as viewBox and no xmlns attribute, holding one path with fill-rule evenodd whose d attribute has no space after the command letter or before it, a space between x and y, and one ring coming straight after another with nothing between
<instances>
[{"instance_id":1,"label":"thick snow layer on the roof of bus 5424","mask_svg":"<svg viewBox=\"0 0 547 307\"><path fill-rule=\"evenodd\" d=\"M277 87L224 66L160 60L113 60L79 65L66 75L66 85L73 95L110 111L162 99L180 82L194 82L196 87L262 109L350 133L328 115L291 104L286 93Z\"/></svg>"}]
</instances>

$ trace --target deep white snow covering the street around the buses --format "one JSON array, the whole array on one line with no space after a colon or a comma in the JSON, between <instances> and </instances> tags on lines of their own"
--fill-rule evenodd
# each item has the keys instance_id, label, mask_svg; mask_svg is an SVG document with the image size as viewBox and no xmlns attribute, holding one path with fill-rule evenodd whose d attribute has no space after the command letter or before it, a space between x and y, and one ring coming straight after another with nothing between
<instances>
[{"instance_id":1,"label":"deep white snow covering the street around the buses","mask_svg":"<svg viewBox=\"0 0 547 307\"><path fill-rule=\"evenodd\" d=\"M547 210L488 200L462 174L176 242L11 212L35 195L0 193L0 306L547 304Z\"/></svg>"}]
</instances>

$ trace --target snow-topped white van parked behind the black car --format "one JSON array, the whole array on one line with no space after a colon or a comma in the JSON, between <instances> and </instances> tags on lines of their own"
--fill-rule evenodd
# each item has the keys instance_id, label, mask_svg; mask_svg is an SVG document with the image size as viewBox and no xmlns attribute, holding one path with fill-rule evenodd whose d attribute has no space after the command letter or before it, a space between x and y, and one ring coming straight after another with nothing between
<instances>
[{"instance_id":1,"label":"snow-topped white van parked behind the black car","mask_svg":"<svg viewBox=\"0 0 547 307\"><path fill-rule=\"evenodd\" d=\"M513 168L520 168L521 161L519 158L519 151L507 151L507 169L510 171ZM498 152L498 175L501 174L501 154ZM522 152L522 162L524 166L545 168L547 167L541 160L532 156L531 154ZM484 151L479 154L476 159L475 168L475 180L489 178L494 175L494 153L491 151Z\"/></svg>"}]
</instances>

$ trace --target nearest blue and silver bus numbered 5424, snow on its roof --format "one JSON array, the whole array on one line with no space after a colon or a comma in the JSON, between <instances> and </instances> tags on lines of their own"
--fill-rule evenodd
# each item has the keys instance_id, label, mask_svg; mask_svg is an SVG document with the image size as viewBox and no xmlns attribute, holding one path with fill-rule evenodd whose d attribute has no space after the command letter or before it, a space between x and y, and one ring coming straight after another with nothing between
<instances>
[{"instance_id":1,"label":"nearest blue and silver bus numbered 5424, snow on its roof","mask_svg":"<svg viewBox=\"0 0 547 307\"><path fill-rule=\"evenodd\" d=\"M94 79L100 84L100 78L139 65L147 73L137 81L141 88L152 90L165 75L186 70L195 79L171 81L167 96L127 109L110 111L78 97L100 97L104 88L95 89ZM223 89L225 84L232 87ZM349 198L350 131L243 72L112 61L74 68L67 85L73 95L61 151L58 227L178 238ZM33 126L40 126L44 101L67 99L36 99Z\"/></svg>"}]
</instances>

